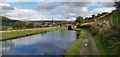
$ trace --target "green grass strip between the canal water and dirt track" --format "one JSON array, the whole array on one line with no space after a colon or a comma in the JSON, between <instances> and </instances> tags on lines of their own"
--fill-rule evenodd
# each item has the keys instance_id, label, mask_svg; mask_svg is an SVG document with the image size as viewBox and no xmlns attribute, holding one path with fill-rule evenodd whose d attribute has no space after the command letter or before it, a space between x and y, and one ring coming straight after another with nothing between
<instances>
[{"instance_id":1,"label":"green grass strip between the canal water and dirt track","mask_svg":"<svg viewBox=\"0 0 120 57\"><path fill-rule=\"evenodd\" d=\"M70 57L69 55L79 55L80 54L80 46L85 38L85 31L82 30L79 32L78 39L74 41L66 50L65 57Z\"/></svg>"}]
</instances>

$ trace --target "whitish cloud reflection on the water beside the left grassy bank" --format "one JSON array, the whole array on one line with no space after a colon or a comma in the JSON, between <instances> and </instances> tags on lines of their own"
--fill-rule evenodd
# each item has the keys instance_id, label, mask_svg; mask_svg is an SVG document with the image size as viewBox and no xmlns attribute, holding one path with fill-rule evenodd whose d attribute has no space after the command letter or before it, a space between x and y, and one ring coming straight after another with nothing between
<instances>
[{"instance_id":1,"label":"whitish cloud reflection on the water beside the left grassy bank","mask_svg":"<svg viewBox=\"0 0 120 57\"><path fill-rule=\"evenodd\" d=\"M37 37L37 36L39 36L39 37ZM33 36L27 36L27 37L21 37L20 39L14 39L14 40L10 40L10 41L7 41L7 42L14 43L14 46L17 46L17 45L34 44L34 43L39 42L40 39L42 39L41 34L33 35Z\"/></svg>"}]
</instances>

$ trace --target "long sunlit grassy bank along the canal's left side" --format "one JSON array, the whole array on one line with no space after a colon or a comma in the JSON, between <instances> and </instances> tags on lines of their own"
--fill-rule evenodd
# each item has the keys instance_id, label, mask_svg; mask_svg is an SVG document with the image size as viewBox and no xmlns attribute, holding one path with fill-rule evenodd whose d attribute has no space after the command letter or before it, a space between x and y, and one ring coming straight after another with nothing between
<instances>
[{"instance_id":1,"label":"long sunlit grassy bank along the canal's left side","mask_svg":"<svg viewBox=\"0 0 120 57\"><path fill-rule=\"evenodd\" d=\"M51 28L36 28L36 29L29 29L29 30L14 30L14 31L6 31L2 32L2 38L0 40L9 40L15 39L23 36L34 35L38 33L45 33L53 30L64 30L65 27L51 27Z\"/></svg>"}]
</instances>

